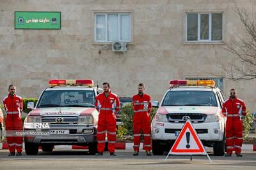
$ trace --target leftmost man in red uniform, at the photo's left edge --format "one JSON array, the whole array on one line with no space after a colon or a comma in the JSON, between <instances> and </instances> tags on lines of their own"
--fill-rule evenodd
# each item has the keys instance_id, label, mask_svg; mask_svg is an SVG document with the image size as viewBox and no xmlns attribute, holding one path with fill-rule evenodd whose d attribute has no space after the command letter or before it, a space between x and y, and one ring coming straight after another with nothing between
<instances>
[{"instance_id":1,"label":"leftmost man in red uniform, at the photo's left edge","mask_svg":"<svg viewBox=\"0 0 256 170\"><path fill-rule=\"evenodd\" d=\"M15 131L22 131L21 113L23 108L22 98L15 94L15 85L9 86L9 94L4 97L4 110L6 111L5 129L12 134L7 136L7 143L10 150L9 156L15 155L15 148L17 150L16 155L20 156L22 152L23 137L13 137ZM7 133L7 134L8 134ZM10 134L9 133L9 134Z\"/></svg>"}]
</instances>

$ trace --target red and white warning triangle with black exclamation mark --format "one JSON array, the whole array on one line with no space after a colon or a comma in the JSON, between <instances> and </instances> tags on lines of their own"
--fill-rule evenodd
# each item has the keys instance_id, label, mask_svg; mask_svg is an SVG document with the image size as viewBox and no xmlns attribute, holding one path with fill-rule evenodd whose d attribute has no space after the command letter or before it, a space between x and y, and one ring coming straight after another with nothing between
<instances>
[{"instance_id":1,"label":"red and white warning triangle with black exclamation mark","mask_svg":"<svg viewBox=\"0 0 256 170\"><path fill-rule=\"evenodd\" d=\"M173 155L206 155L204 145L198 138L196 131L188 119L175 143L173 144L169 154Z\"/></svg>"}]
</instances>

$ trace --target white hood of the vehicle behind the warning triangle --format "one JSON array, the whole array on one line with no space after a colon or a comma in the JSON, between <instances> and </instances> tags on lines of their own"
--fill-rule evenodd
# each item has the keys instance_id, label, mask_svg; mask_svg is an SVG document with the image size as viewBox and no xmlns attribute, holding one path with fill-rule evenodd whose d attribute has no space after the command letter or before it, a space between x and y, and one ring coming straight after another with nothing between
<instances>
[{"instance_id":1,"label":"white hood of the vehicle behind the warning triangle","mask_svg":"<svg viewBox=\"0 0 256 170\"><path fill-rule=\"evenodd\" d=\"M161 106L157 113L168 114L168 113L202 113L206 115L218 113L218 107L212 106Z\"/></svg>"}]
</instances>

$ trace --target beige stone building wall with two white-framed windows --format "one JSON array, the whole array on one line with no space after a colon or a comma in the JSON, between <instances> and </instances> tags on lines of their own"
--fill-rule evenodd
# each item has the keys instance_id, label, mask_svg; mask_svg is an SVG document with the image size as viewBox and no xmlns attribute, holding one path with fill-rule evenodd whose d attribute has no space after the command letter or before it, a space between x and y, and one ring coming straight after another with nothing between
<instances>
[{"instance_id":1,"label":"beige stone building wall with two white-framed windows","mask_svg":"<svg viewBox=\"0 0 256 170\"><path fill-rule=\"evenodd\" d=\"M15 11L60 11L61 29L15 29ZM143 82L160 101L172 79L213 78L256 111L256 81L223 78L237 62L223 47L242 30L232 0L0 0L0 96L10 83L38 97L51 79L92 78L121 97ZM113 41L127 52L113 52Z\"/></svg>"}]
</instances>

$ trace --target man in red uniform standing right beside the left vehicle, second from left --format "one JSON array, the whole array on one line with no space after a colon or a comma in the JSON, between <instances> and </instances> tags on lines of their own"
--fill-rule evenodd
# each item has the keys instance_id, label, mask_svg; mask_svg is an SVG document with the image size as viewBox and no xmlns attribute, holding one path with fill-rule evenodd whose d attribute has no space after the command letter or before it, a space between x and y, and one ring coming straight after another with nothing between
<instances>
[{"instance_id":1,"label":"man in red uniform standing right beside the left vehicle, second from left","mask_svg":"<svg viewBox=\"0 0 256 170\"><path fill-rule=\"evenodd\" d=\"M120 111L120 101L116 94L110 91L109 83L103 83L103 91L95 99L95 107L99 111L98 120L98 153L96 155L103 155L105 148L106 132L108 136L108 150L111 156L116 156L115 142L116 142L116 118L115 115Z\"/></svg>"}]
</instances>

